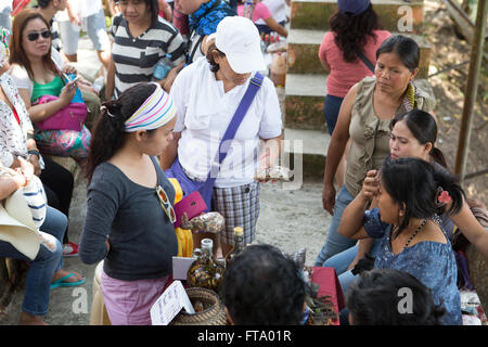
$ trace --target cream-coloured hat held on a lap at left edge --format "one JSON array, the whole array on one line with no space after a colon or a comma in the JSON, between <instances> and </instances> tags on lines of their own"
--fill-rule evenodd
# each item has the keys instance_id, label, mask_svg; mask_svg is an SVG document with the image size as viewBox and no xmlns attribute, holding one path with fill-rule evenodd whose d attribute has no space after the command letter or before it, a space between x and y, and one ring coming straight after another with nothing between
<instances>
[{"instance_id":1,"label":"cream-coloured hat held on a lap at left edge","mask_svg":"<svg viewBox=\"0 0 488 347\"><path fill-rule=\"evenodd\" d=\"M34 260L39 252L40 236L23 191L17 190L4 204L0 203L0 241L11 243Z\"/></svg>"}]
</instances>

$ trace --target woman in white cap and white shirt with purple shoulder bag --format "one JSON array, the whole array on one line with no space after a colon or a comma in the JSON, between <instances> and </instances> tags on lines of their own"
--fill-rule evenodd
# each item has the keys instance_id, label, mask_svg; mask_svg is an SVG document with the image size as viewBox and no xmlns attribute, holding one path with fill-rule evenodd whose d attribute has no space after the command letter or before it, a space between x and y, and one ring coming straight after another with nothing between
<instances>
[{"instance_id":1,"label":"woman in white cap and white shirt with purple shoulder bag","mask_svg":"<svg viewBox=\"0 0 488 347\"><path fill-rule=\"evenodd\" d=\"M259 157L261 167L278 158L282 119L273 83L265 77L254 99L244 97L259 85L260 75L255 73L265 68L259 33L253 22L226 17L217 26L207 56L183 68L170 92L178 120L162 166L171 167L185 194L198 190L207 207L226 218L223 254L233 244L234 227L244 228L246 243L255 239L259 183L254 174ZM251 102L247 112L236 112L243 100ZM237 118L242 123L236 125ZM229 136L230 129L233 136ZM265 142L264 153L271 155L259 155L260 140ZM222 143L230 145L219 151ZM210 179L214 181L207 184ZM200 185L205 189L196 188Z\"/></svg>"}]
</instances>

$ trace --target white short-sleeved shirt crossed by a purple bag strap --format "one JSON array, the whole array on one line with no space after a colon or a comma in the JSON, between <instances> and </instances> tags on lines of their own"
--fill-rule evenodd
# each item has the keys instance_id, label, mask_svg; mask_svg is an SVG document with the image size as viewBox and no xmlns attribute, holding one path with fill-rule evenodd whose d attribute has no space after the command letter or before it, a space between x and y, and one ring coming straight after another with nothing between
<instances>
[{"instance_id":1,"label":"white short-sleeved shirt crossed by a purple bag strap","mask_svg":"<svg viewBox=\"0 0 488 347\"><path fill-rule=\"evenodd\" d=\"M240 104L249 79L224 93L223 82L215 78L205 57L184 67L175 79L170 94L177 106L175 132L181 132L178 157L191 176L207 178L210 163L218 166L220 141ZM281 110L273 82L265 77L262 86L241 123L215 187L248 184L258 164L259 139L279 137Z\"/></svg>"}]
</instances>

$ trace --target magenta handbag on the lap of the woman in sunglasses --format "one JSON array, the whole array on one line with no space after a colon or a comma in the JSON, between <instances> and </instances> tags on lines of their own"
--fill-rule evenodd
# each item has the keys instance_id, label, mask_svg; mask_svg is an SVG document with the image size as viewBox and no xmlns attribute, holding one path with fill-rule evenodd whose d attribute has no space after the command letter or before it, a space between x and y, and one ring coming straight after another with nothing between
<instances>
[{"instance_id":1,"label":"magenta handbag on the lap of the woman in sunglasses","mask_svg":"<svg viewBox=\"0 0 488 347\"><path fill-rule=\"evenodd\" d=\"M54 95L42 95L37 104L46 104L57 100ZM88 107L81 102L72 102L65 107L57 111L51 117L37 121L36 126L39 130L76 130L81 131L85 119L87 118Z\"/></svg>"}]
</instances>

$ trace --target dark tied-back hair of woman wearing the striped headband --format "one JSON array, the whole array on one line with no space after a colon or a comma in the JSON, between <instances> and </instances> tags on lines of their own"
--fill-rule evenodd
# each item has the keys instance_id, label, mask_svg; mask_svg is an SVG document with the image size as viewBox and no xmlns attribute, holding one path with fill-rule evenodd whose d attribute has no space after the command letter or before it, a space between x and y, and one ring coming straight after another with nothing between
<instances>
[{"instance_id":1,"label":"dark tied-back hair of woman wearing the striped headband","mask_svg":"<svg viewBox=\"0 0 488 347\"><path fill-rule=\"evenodd\" d=\"M120 98L102 103L101 113L94 124L85 175L91 181L100 164L108 160L121 147L125 121L154 92L153 83L138 83L125 90ZM153 130L149 130L151 133Z\"/></svg>"}]
</instances>

